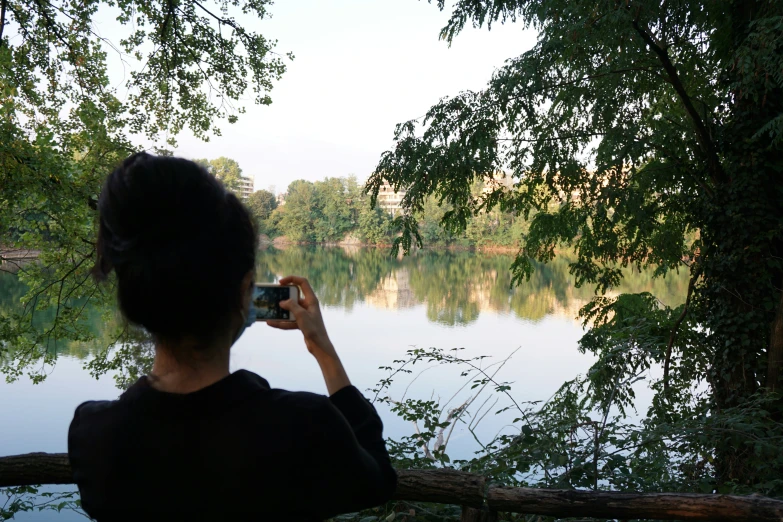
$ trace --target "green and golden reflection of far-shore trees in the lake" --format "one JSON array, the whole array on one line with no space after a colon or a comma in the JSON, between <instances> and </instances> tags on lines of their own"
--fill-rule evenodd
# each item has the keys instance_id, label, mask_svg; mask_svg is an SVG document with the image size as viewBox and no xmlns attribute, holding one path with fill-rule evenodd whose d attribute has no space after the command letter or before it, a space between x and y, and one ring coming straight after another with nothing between
<instances>
[{"instance_id":1,"label":"green and golden reflection of far-shore trees in the lake","mask_svg":"<svg viewBox=\"0 0 783 522\"><path fill-rule=\"evenodd\" d=\"M381 308L424 303L431 321L449 325L470 324L482 311L533 321L552 314L575 318L594 295L592 287L574 287L565 255L538 264L529 281L512 289L512 261L510 255L463 251L418 251L396 259L382 249L290 247L262 252L258 273L266 280L306 275L323 304L347 309L357 301ZM684 299L685 274L653 279L651 271L624 272L613 294L647 291L670 306Z\"/></svg>"}]
</instances>

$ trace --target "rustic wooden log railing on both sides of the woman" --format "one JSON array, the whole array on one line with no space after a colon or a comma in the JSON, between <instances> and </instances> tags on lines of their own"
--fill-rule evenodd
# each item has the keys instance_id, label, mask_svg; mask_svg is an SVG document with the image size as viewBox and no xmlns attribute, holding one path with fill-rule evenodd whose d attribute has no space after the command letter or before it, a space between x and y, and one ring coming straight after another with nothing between
<instances>
[{"instance_id":1,"label":"rustic wooden log railing on both sides of the woman","mask_svg":"<svg viewBox=\"0 0 783 522\"><path fill-rule=\"evenodd\" d=\"M616 493L488 485L481 475L462 471L400 470L397 500L463 506L462 520L491 522L497 512L556 517L783 522L783 501L760 495ZM65 453L0 457L0 487L72 484Z\"/></svg>"}]
</instances>

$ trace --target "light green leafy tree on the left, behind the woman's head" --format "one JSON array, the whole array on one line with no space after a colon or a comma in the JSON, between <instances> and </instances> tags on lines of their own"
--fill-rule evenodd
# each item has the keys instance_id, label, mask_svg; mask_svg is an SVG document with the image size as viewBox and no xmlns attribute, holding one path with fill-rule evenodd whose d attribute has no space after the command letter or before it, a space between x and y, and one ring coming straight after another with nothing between
<instances>
[{"instance_id":1,"label":"light green leafy tree on the left, behind the woman's head","mask_svg":"<svg viewBox=\"0 0 783 522\"><path fill-rule=\"evenodd\" d=\"M230 15L266 18L269 5L2 2L0 243L41 252L19 271L23 309L0 320L0 352L14 350L2 366L8 378L42 379L58 343L91 337L87 310L113 313L113 288L90 278L97 195L106 173L140 148L134 140L172 147L184 128L206 140L221 121L237 120L248 88L256 103L271 103L283 59ZM122 25L122 39L95 32L99 11ZM113 87L112 60L127 68L127 90ZM46 309L53 318L41 317ZM115 333L120 345L128 339L122 326Z\"/></svg>"}]
</instances>

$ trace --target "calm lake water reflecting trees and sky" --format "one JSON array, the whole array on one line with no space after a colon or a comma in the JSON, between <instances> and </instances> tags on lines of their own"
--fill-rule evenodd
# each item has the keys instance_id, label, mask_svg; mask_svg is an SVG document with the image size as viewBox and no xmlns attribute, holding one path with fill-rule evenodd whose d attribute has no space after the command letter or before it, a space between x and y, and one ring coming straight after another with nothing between
<instances>
[{"instance_id":1,"label":"calm lake water reflecting trees and sky","mask_svg":"<svg viewBox=\"0 0 783 522\"><path fill-rule=\"evenodd\" d=\"M373 394L367 390L388 374L379 367L392 365L415 346L464 348L459 353L465 358L491 356L482 361L484 365L518 349L496 378L513 383L517 400L532 401L547 399L593 361L577 349L583 330L576 319L579 308L593 296L593 288L575 288L566 258L538 266L529 281L511 289L511 255L420 250L397 259L381 249L270 248L259 252L257 280L272 282L288 274L310 279L348 374L369 398ZM649 291L666 305L676 306L684 301L687 284L685 273L653 279L649 272L627 269L622 286L611 294ZM0 273L0 315L18 305L23 291L15 276ZM92 328L100 338L101 324L96 321ZM94 344L69 344L56 365L46 368L49 375L42 384L32 384L26 377L10 384L0 382L0 455L65 452L76 406L85 400L117 398L122 390L111 375L94 379L83 369L95 349ZM234 346L231 367L256 372L273 387L326 393L299 332L254 325ZM416 368L398 378L391 397L445 401L464 384L457 368ZM468 392L461 393L456 403ZM640 413L649 397L641 386ZM410 422L385 407L379 407L379 412L387 436L413 433ZM488 415L475 431L489 439L511 429L507 424L503 416ZM449 455L470 457L476 448L473 436L458 425L448 445ZM2 501L0 497L0 505ZM21 514L17 519L84 520L65 512Z\"/></svg>"}]
</instances>

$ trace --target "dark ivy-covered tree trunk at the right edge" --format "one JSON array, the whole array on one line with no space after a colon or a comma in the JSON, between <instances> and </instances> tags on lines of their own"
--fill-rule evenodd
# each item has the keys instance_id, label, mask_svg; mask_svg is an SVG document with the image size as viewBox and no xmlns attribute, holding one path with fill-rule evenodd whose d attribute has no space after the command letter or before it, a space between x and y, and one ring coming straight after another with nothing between
<instances>
[{"instance_id":1,"label":"dark ivy-covered tree trunk at the right edge","mask_svg":"<svg viewBox=\"0 0 783 522\"><path fill-rule=\"evenodd\" d=\"M721 38L731 46L732 55L742 56L748 46L764 45L753 39L754 24L783 14L781 5L746 0L727 7L728 25L721 29ZM776 40L767 44L775 45L774 52L779 52ZM716 413L747 408L762 388L779 386L781 371L778 350L783 348L775 330L783 277L779 262L783 255L779 221L783 215L783 162L774 134L761 129L783 110L783 93L776 84L766 86L766 66L757 60L758 55L748 67L726 64L727 85L735 89L731 117L720 133L721 160L729 181L715 184L715 197L705 206L709 215L705 214L700 227L707 254L702 292L707 299L702 301L700 326L709 332L714 349L711 386ZM743 91L763 92L763 101L743 95ZM774 412L780 407L778 403L768 409ZM748 444L750 435L744 428L729 428L708 434L715 441L719 485L752 486L781 476L783 469L776 464L775 449L759 453Z\"/></svg>"}]
</instances>

